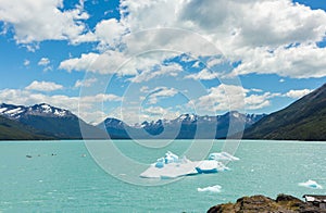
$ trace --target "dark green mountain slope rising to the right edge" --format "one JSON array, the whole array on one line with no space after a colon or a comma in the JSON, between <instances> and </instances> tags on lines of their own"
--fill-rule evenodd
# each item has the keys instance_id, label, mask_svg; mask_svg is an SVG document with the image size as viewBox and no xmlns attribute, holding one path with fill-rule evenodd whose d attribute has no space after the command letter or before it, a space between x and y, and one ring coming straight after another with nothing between
<instances>
[{"instance_id":1,"label":"dark green mountain slope rising to the right edge","mask_svg":"<svg viewBox=\"0 0 326 213\"><path fill-rule=\"evenodd\" d=\"M326 84L289 106L265 116L246 139L326 140Z\"/></svg>"}]
</instances>

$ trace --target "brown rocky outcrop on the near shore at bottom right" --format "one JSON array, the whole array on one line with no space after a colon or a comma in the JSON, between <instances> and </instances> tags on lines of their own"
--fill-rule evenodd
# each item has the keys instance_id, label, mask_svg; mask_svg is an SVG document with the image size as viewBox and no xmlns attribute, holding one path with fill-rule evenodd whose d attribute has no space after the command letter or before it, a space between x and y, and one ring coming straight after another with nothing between
<instances>
[{"instance_id":1,"label":"brown rocky outcrop on the near shore at bottom right","mask_svg":"<svg viewBox=\"0 0 326 213\"><path fill-rule=\"evenodd\" d=\"M243 197L236 203L224 203L212 206L208 213L250 213L250 212L269 212L269 213L326 213L317 206L313 206L292 196L279 195L276 200L265 196Z\"/></svg>"}]
</instances>

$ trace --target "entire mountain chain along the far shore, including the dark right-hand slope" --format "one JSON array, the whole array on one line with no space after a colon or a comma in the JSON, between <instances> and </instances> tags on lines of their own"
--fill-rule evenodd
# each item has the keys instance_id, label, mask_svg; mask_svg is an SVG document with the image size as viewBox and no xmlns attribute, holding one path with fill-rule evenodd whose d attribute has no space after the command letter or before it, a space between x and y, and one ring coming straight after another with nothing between
<instances>
[{"instance_id":1,"label":"entire mountain chain along the far shore, including the dark right-hand slope","mask_svg":"<svg viewBox=\"0 0 326 213\"><path fill-rule=\"evenodd\" d=\"M0 104L1 140L105 139L108 135L113 139L212 139L239 138L242 133L246 139L326 140L326 84L269 115L236 111L217 116L181 114L135 125L108 117L93 126L47 103Z\"/></svg>"}]
</instances>

